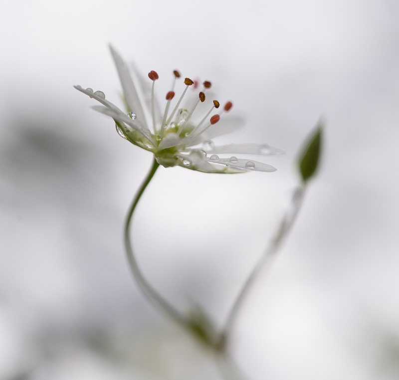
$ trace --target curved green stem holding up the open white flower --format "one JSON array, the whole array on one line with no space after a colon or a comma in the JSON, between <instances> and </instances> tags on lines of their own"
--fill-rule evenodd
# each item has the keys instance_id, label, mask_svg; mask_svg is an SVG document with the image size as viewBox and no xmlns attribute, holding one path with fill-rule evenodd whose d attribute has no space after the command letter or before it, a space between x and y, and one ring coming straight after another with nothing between
<instances>
[{"instance_id":1,"label":"curved green stem holding up the open white flower","mask_svg":"<svg viewBox=\"0 0 399 380\"><path fill-rule=\"evenodd\" d=\"M129 207L128 214L126 216L125 228L124 228L124 237L125 237L125 248L127 257L129 260L130 269L132 270L133 277L136 279L143 293L147 296L147 298L158 308L166 312L173 320L175 320L178 324L183 325L185 328L188 326L188 321L186 318L177 311L168 301L166 301L146 280L144 275L142 274L139 265L137 263L135 254L132 248L132 242L130 239L130 227L132 224L132 217L134 210L139 202L141 196L143 195L144 190L146 190L148 184L154 177L155 172L159 167L158 162L154 158L153 165L150 171L147 174L147 177L141 184L139 190L137 191L135 197L133 198L132 204Z\"/></svg>"}]
</instances>

